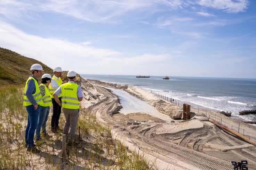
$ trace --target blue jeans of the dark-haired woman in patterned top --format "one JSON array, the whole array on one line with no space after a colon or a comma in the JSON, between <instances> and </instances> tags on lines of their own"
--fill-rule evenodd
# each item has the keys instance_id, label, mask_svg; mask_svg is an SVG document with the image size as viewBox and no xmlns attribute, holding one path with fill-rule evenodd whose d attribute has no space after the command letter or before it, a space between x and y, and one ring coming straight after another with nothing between
<instances>
[{"instance_id":1,"label":"blue jeans of the dark-haired woman in patterned top","mask_svg":"<svg viewBox=\"0 0 256 170\"><path fill-rule=\"evenodd\" d=\"M50 107L44 107L39 105L39 118L38 118L38 125L37 125L37 130L35 131L35 137L37 139L40 139L40 132L42 128L42 133L46 134L46 121L48 120L50 112Z\"/></svg>"}]
</instances>

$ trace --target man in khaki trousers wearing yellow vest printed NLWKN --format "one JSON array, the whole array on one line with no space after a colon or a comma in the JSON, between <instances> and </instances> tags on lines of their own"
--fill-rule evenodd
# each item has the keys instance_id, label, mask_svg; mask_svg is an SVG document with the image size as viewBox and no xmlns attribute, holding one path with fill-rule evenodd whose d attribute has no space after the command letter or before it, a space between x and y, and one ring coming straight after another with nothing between
<instances>
[{"instance_id":1,"label":"man in khaki trousers wearing yellow vest printed NLWKN","mask_svg":"<svg viewBox=\"0 0 256 170\"><path fill-rule=\"evenodd\" d=\"M75 71L70 70L67 73L69 82L62 84L53 94L55 101L63 107L65 116L63 134L68 134L69 146L78 145L74 142L74 136L79 118L79 102L83 100L81 87L74 82L75 76ZM59 100L58 95L61 95L62 101Z\"/></svg>"}]
</instances>

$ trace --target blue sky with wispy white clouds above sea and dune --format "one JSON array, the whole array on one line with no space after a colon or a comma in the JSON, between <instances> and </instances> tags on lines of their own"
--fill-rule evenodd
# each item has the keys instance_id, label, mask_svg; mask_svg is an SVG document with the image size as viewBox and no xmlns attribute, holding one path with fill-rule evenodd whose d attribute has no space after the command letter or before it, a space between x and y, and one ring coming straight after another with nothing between
<instances>
[{"instance_id":1,"label":"blue sky with wispy white clouds above sea and dune","mask_svg":"<svg viewBox=\"0 0 256 170\"><path fill-rule=\"evenodd\" d=\"M0 47L79 74L256 78L256 2L0 0Z\"/></svg>"}]
</instances>

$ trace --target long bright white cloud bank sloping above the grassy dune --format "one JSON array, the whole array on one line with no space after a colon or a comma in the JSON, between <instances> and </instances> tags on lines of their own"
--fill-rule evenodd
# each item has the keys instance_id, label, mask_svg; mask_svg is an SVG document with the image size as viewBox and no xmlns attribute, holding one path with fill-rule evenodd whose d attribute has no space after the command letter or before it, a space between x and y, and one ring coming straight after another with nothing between
<instances>
[{"instance_id":1,"label":"long bright white cloud bank sloping above the grassy dune","mask_svg":"<svg viewBox=\"0 0 256 170\"><path fill-rule=\"evenodd\" d=\"M90 47L90 42L73 43L65 40L45 39L26 34L0 21L0 46L33 58L54 68L86 73L89 70L104 70L122 67L128 69L138 65L150 65L169 59L169 54L143 54L122 57L122 53L110 49Z\"/></svg>"}]
</instances>

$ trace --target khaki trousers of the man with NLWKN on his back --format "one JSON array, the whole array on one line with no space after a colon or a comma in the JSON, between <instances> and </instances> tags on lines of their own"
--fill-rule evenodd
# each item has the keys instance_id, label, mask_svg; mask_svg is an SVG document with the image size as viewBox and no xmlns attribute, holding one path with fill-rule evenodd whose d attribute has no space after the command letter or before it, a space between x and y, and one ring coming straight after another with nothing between
<instances>
[{"instance_id":1,"label":"khaki trousers of the man with NLWKN on his back","mask_svg":"<svg viewBox=\"0 0 256 170\"><path fill-rule=\"evenodd\" d=\"M66 109L63 108L64 116L66 119L63 134L68 134L68 140L74 141L75 131L79 118L79 109Z\"/></svg>"}]
</instances>

